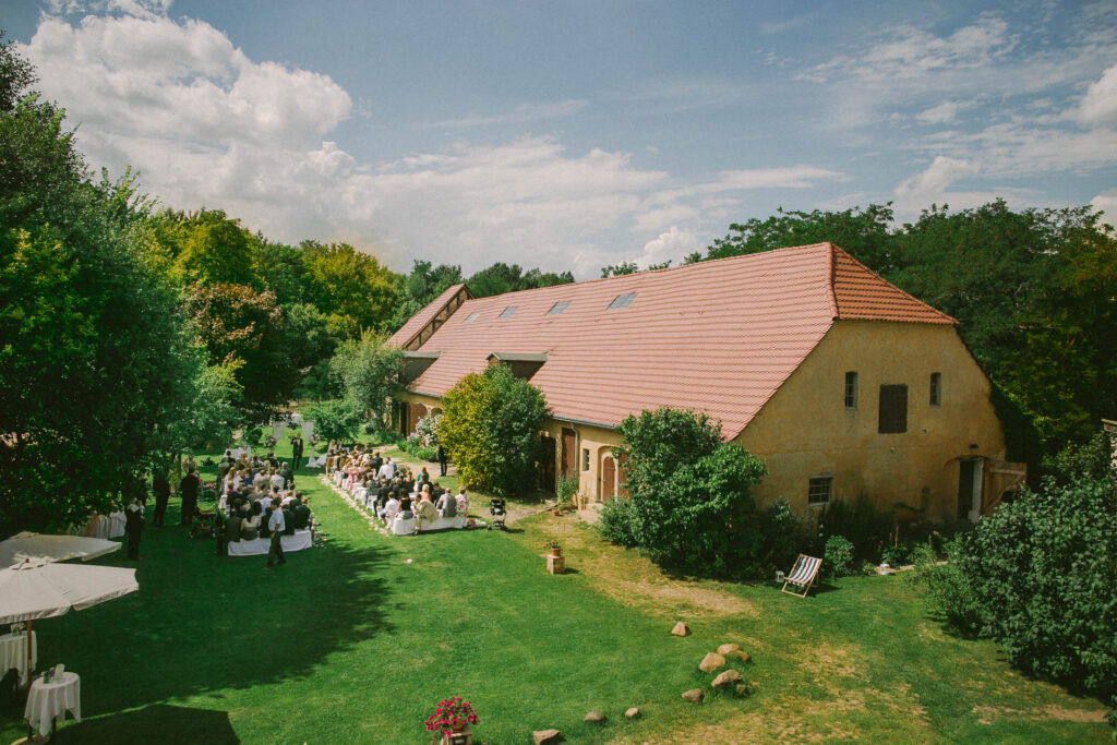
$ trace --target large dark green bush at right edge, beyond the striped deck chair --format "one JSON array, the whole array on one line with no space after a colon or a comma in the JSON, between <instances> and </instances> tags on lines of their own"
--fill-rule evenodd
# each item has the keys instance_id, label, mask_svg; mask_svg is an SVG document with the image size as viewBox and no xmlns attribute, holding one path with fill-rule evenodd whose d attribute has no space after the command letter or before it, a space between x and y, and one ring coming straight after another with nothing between
<instances>
[{"instance_id":1,"label":"large dark green bush at right edge, beyond the striped deck chair","mask_svg":"<svg viewBox=\"0 0 1117 745\"><path fill-rule=\"evenodd\" d=\"M1044 480L917 562L928 601L995 639L1029 674L1117 693L1117 487L1111 476Z\"/></svg>"}]
</instances>

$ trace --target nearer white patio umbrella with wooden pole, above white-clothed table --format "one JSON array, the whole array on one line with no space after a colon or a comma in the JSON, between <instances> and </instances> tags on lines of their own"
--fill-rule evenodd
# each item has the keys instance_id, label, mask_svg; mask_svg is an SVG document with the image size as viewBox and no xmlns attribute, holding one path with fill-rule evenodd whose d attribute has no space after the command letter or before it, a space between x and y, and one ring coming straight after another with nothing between
<instances>
[{"instance_id":1,"label":"nearer white patio umbrella with wooden pole, above white-clothed table","mask_svg":"<svg viewBox=\"0 0 1117 745\"><path fill-rule=\"evenodd\" d=\"M27 621L27 681L31 684L31 621L61 615L140 589L134 569L25 562L0 569L0 624Z\"/></svg>"}]
</instances>

